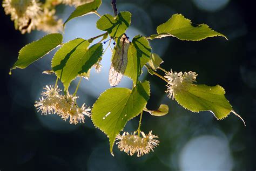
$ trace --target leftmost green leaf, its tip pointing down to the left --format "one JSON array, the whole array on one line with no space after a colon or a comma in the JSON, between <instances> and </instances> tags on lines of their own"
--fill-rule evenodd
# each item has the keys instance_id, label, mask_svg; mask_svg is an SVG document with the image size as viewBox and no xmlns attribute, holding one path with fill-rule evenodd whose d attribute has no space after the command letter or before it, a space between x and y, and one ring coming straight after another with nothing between
<instances>
[{"instance_id":1,"label":"leftmost green leaf, its tip pointing down to the left","mask_svg":"<svg viewBox=\"0 0 256 171\"><path fill-rule=\"evenodd\" d=\"M50 35L46 35L35 42L25 45L19 51L18 60L11 68L11 70L16 69L25 69L27 66L45 56L45 54L49 53L53 49L55 49L58 45L62 43L62 34L53 33Z\"/></svg>"}]
</instances>

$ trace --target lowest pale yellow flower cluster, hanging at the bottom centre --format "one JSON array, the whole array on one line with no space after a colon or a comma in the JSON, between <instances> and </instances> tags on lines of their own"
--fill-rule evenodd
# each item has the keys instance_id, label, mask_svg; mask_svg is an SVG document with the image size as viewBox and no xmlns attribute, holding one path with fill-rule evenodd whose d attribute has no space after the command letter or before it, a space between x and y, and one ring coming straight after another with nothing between
<instances>
[{"instance_id":1,"label":"lowest pale yellow flower cluster, hanging at the bottom centre","mask_svg":"<svg viewBox=\"0 0 256 171\"><path fill-rule=\"evenodd\" d=\"M134 153L137 156L142 156L144 154L148 154L150 151L153 151L154 147L157 147L159 144L159 140L156 140L158 136L153 135L152 131L149 134L142 133L143 137L140 137L134 132L133 134L129 134L124 132L123 135L118 134L116 140L118 148L120 151L124 151L128 155L133 155Z\"/></svg>"}]
</instances>

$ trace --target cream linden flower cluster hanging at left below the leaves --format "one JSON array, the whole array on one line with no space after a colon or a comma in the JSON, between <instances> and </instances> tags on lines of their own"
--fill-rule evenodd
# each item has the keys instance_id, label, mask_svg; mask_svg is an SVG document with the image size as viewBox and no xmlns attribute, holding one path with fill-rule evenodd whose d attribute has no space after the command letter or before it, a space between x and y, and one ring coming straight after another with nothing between
<instances>
[{"instance_id":1,"label":"cream linden flower cluster hanging at left below the leaves","mask_svg":"<svg viewBox=\"0 0 256 171\"><path fill-rule=\"evenodd\" d=\"M91 109L86 108L85 104L78 107L77 96L69 94L69 92L65 95L59 94L61 90L58 86L46 86L44 89L46 91L42 92L42 97L35 102L38 112L41 111L44 115L57 114L65 121L70 118L70 124L84 123L84 115L91 116Z\"/></svg>"}]
</instances>

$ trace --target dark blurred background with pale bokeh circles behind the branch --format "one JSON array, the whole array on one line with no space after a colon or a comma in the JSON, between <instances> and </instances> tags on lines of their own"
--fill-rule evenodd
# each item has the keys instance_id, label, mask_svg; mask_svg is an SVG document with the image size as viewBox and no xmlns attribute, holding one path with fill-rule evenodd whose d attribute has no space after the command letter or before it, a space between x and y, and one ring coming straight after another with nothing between
<instances>
[{"instance_id":1,"label":"dark blurred background with pale bokeh circles behind the branch","mask_svg":"<svg viewBox=\"0 0 256 171\"><path fill-rule=\"evenodd\" d=\"M231 114L217 121L210 112L192 113L166 97L165 83L147 74L142 80L151 82L151 98L147 108L169 105L164 117L143 115L142 130L159 136L160 145L154 152L140 158L127 156L114 146L109 153L109 140L93 127L89 118L85 124L70 125L56 115L37 113L34 102L45 85L53 85L56 77L42 74L50 69L54 52L30 65L16 69L9 76L18 51L25 44L41 38L44 32L21 35L14 29L10 16L0 8L1 20L1 119L0 170L255 170L256 122L256 32L253 1L230 0L117 0L119 11L130 11L132 23L127 35L156 33L159 24L174 13L182 13L193 23L205 23L228 37L186 42L176 38L151 41L152 52L164 59L163 68L174 71L195 71L198 84L219 84L234 111L246 121ZM58 16L65 20L74 8L59 6ZM110 1L103 0L101 15L113 13ZM96 15L73 19L66 26L64 42L73 38L90 38L97 30ZM106 46L104 46L106 47ZM78 90L81 105L92 106L100 93L110 88L107 75L111 51L103 56L101 73L91 72ZM73 81L70 92L76 88ZM131 87L123 78L119 87ZM62 85L59 83L59 86ZM125 131L138 127L139 118L129 121Z\"/></svg>"}]
</instances>

